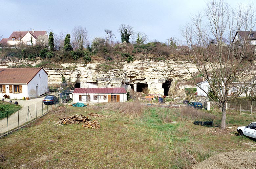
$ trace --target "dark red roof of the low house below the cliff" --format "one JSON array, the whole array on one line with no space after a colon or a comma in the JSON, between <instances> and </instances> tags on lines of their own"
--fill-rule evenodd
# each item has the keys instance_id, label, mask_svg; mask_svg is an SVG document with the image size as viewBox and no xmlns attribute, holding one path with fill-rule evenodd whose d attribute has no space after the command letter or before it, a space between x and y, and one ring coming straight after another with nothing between
<instances>
[{"instance_id":1,"label":"dark red roof of the low house below the cliff","mask_svg":"<svg viewBox=\"0 0 256 169\"><path fill-rule=\"evenodd\" d=\"M126 93L124 88L75 88L73 94L111 94Z\"/></svg>"}]
</instances>

